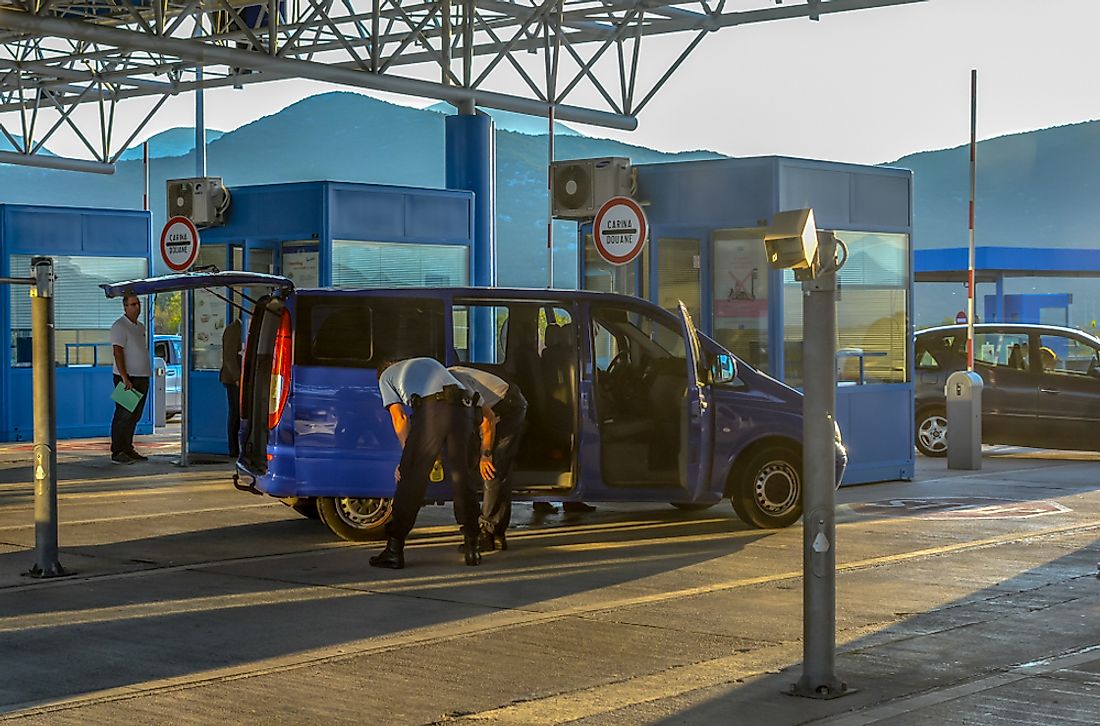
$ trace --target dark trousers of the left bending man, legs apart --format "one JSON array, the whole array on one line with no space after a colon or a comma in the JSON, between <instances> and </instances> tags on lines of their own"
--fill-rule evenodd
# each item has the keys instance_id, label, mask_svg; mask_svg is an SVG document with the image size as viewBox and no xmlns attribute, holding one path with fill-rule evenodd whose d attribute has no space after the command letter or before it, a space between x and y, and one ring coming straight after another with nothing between
<instances>
[{"instance_id":1,"label":"dark trousers of the left bending man, legs apart","mask_svg":"<svg viewBox=\"0 0 1100 726\"><path fill-rule=\"evenodd\" d=\"M431 468L442 458L454 490L454 519L463 535L477 534L477 493L470 471L470 435L473 409L461 404L426 399L413 409L409 436L398 466L400 480L394 494L394 518L386 534L405 540L424 505Z\"/></svg>"}]
</instances>

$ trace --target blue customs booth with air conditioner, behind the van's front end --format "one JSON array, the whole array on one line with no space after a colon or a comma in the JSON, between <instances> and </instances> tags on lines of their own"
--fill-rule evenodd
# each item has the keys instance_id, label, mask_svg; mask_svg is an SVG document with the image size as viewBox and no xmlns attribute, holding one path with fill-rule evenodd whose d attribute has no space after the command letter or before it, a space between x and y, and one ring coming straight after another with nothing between
<instances>
[{"instance_id":1,"label":"blue customs booth with air conditioner, behind the van's front end","mask_svg":"<svg viewBox=\"0 0 1100 726\"><path fill-rule=\"evenodd\" d=\"M802 287L769 267L763 228L779 211L812 207L817 228L848 248L836 361L844 483L912 479L912 173L776 156L634 168L649 242L616 266L596 252L591 223L581 226L583 287L669 309L683 300L701 330L799 387Z\"/></svg>"}]
</instances>

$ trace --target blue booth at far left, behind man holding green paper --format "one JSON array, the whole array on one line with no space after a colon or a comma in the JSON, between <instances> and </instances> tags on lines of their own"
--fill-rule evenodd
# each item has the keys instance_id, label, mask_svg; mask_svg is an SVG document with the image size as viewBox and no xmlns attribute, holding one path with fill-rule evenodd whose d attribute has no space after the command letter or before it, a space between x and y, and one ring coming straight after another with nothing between
<instances>
[{"instance_id":1,"label":"blue booth at far left, behind man holding green paper","mask_svg":"<svg viewBox=\"0 0 1100 726\"><path fill-rule=\"evenodd\" d=\"M26 277L32 257L54 258L58 438L110 435L110 329L122 306L99 284L148 274L150 240L146 211L0 205L0 277ZM0 288L0 441L34 439L29 289ZM146 405L138 432L152 431Z\"/></svg>"}]
</instances>

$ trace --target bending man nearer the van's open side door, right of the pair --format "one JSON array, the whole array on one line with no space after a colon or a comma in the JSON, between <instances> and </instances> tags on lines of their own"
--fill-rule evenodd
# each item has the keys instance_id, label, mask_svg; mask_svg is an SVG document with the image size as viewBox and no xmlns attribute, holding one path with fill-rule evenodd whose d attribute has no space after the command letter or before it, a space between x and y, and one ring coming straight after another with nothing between
<instances>
[{"instance_id":1,"label":"bending man nearer the van's open side door, right of the pair","mask_svg":"<svg viewBox=\"0 0 1100 726\"><path fill-rule=\"evenodd\" d=\"M482 420L479 427L479 473L485 482L482 502L480 549L508 549L506 532L512 520L512 464L527 422L527 399L519 386L487 371L453 365L448 371L477 394Z\"/></svg>"}]
</instances>

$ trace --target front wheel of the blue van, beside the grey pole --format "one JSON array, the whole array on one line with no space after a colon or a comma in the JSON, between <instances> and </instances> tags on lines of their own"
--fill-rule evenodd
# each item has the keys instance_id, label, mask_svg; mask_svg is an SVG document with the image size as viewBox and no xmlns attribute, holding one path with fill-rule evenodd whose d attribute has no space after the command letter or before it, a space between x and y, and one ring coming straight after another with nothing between
<instances>
[{"instance_id":1,"label":"front wheel of the blue van, beside the grey pole","mask_svg":"<svg viewBox=\"0 0 1100 726\"><path fill-rule=\"evenodd\" d=\"M770 447L752 454L729 496L746 525L790 527L802 516L802 466L790 449Z\"/></svg>"}]
</instances>

